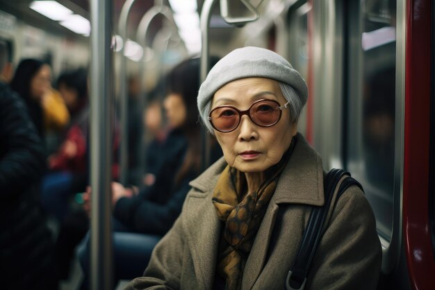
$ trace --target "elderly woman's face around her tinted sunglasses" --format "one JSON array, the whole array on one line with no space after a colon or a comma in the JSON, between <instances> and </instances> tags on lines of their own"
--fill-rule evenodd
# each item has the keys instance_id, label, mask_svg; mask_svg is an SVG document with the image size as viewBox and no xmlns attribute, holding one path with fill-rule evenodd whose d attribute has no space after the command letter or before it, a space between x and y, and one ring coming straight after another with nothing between
<instances>
[{"instance_id":1,"label":"elderly woman's face around her tinted sunglasses","mask_svg":"<svg viewBox=\"0 0 435 290\"><path fill-rule=\"evenodd\" d=\"M231 81L217 90L211 108L231 105L244 111L258 99L273 99L281 106L287 102L277 81L248 78ZM281 160L296 132L297 123L290 122L289 110L285 108L279 122L272 127L259 127L243 115L234 131L215 130L215 136L229 166L241 172L263 172Z\"/></svg>"}]
</instances>

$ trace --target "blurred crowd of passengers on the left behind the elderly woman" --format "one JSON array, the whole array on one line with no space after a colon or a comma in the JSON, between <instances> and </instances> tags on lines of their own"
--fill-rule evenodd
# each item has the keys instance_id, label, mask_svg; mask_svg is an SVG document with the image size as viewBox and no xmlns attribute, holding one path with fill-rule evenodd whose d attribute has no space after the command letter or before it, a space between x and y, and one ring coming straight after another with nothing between
<instances>
[{"instance_id":1,"label":"blurred crowd of passengers on the left behind the elderly woman","mask_svg":"<svg viewBox=\"0 0 435 290\"><path fill-rule=\"evenodd\" d=\"M58 289L77 253L86 289L88 69L55 78L49 62L26 58L14 71L10 51L0 41L0 283L7 289ZM140 80L129 78L129 184L118 180L117 114L112 124L114 285L142 274L154 245L179 215L188 182L199 174L198 74L198 59L174 67L147 92L145 111L138 106ZM216 149L213 159L221 154Z\"/></svg>"}]
</instances>

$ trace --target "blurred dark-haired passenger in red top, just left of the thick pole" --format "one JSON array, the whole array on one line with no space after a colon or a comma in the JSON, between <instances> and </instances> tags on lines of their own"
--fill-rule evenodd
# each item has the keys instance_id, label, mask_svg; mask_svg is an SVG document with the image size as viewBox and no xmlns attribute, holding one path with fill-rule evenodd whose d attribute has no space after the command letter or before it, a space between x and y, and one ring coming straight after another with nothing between
<instances>
[{"instance_id":1,"label":"blurred dark-haired passenger in red top, just left of the thick pole","mask_svg":"<svg viewBox=\"0 0 435 290\"><path fill-rule=\"evenodd\" d=\"M58 88L72 115L59 149L49 156L49 174L42 183L42 204L62 221L69 199L88 184L88 74L79 69L59 77Z\"/></svg>"}]
</instances>

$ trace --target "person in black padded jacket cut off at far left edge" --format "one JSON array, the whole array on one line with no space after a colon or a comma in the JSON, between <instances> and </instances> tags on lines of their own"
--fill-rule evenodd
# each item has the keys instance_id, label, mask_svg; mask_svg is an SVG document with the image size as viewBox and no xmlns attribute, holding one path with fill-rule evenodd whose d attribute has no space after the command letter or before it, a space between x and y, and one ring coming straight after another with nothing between
<instances>
[{"instance_id":1,"label":"person in black padded jacket cut off at far left edge","mask_svg":"<svg viewBox=\"0 0 435 290\"><path fill-rule=\"evenodd\" d=\"M57 289L54 245L38 200L44 150L20 97L3 81L0 42L0 287Z\"/></svg>"}]
</instances>

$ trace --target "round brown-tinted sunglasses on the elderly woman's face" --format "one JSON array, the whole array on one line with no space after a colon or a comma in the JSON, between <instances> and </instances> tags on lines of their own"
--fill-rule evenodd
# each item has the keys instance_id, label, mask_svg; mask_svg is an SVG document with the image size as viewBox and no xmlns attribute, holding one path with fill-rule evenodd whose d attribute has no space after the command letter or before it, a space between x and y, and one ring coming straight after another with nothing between
<instances>
[{"instance_id":1,"label":"round brown-tinted sunglasses on the elderly woman's face","mask_svg":"<svg viewBox=\"0 0 435 290\"><path fill-rule=\"evenodd\" d=\"M284 108L288 108L288 102L280 106L273 99L260 99L245 111L240 111L235 106L217 106L211 110L208 120L213 128L223 133L234 131L243 115L248 115L249 119L259 127L270 127L281 119Z\"/></svg>"}]
</instances>

